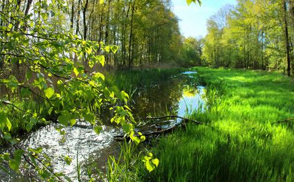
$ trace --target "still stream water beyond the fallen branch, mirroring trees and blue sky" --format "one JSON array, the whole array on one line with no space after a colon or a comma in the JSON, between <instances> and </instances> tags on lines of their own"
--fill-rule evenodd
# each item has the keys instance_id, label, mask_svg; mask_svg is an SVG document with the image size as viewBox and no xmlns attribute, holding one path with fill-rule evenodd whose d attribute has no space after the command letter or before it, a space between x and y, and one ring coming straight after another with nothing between
<instances>
[{"instance_id":1,"label":"still stream water beyond the fallen branch, mirroring trees and blue sky","mask_svg":"<svg viewBox=\"0 0 294 182\"><path fill-rule=\"evenodd\" d=\"M146 117L176 114L184 117L192 110L203 110L204 87L197 85L196 72L183 72L169 81L157 85L146 85L134 94L132 110L137 120Z\"/></svg>"}]
</instances>

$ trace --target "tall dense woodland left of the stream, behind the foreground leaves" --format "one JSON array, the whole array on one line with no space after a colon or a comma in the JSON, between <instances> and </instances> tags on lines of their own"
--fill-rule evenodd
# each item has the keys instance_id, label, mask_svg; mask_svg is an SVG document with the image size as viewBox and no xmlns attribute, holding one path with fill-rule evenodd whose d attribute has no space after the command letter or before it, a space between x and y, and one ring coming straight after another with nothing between
<instances>
[{"instance_id":1,"label":"tall dense woodland left of the stream, behind the foreground leaves","mask_svg":"<svg viewBox=\"0 0 294 182\"><path fill-rule=\"evenodd\" d=\"M64 3L64 7L58 8L46 1L2 1L0 24L7 27L7 31L20 32L24 39L32 41L42 41L44 37L37 34L50 37L50 34L71 32L83 40L116 45L118 47L113 47L113 50L118 51L116 54L106 54L105 63L120 68L180 62L179 48L187 43L192 43L187 47L192 46L196 41L185 41L181 36L178 19L171 10L169 0L72 0ZM53 10L50 10L51 6ZM26 20L20 24L15 17ZM41 25L50 30L43 32L37 29ZM1 46L2 57L7 56L6 49L6 45ZM193 53L195 50L192 49L182 52ZM104 54L105 51L97 48L93 52ZM190 55L188 61L192 62L195 55ZM77 55L71 54L69 58L79 61ZM3 65L3 59L1 61Z\"/></svg>"}]
</instances>

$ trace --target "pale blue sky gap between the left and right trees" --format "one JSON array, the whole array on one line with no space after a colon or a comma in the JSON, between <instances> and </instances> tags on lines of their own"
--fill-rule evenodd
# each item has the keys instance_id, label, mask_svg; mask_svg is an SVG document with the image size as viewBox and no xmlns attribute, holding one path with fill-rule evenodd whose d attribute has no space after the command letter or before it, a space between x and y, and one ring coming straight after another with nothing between
<instances>
[{"instance_id":1,"label":"pale blue sky gap between the left and right trees","mask_svg":"<svg viewBox=\"0 0 294 182\"><path fill-rule=\"evenodd\" d=\"M179 26L185 37L205 37L207 34L206 21L216 14L226 4L236 5L236 0L202 0L199 4L187 6L185 0L172 0L174 14L180 19Z\"/></svg>"}]
</instances>

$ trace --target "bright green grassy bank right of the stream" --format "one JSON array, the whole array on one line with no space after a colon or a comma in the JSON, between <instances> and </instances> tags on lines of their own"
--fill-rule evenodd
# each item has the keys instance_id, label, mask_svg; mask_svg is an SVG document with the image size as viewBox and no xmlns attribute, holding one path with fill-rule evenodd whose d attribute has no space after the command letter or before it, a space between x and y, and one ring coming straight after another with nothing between
<instances>
[{"instance_id":1,"label":"bright green grassy bank right of the stream","mask_svg":"<svg viewBox=\"0 0 294 182\"><path fill-rule=\"evenodd\" d=\"M279 73L196 68L208 108L192 119L210 126L161 137L158 169L143 181L294 181L294 83Z\"/></svg>"}]
</instances>

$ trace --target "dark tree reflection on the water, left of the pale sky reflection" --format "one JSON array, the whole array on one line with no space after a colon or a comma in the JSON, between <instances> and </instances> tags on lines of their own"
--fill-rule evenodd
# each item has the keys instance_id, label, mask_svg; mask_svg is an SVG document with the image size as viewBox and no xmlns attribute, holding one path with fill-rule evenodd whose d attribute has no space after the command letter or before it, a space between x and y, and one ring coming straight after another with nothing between
<instances>
[{"instance_id":1,"label":"dark tree reflection on the water, left of the pale sky reflection","mask_svg":"<svg viewBox=\"0 0 294 182\"><path fill-rule=\"evenodd\" d=\"M176 112L185 83L187 83L185 79L177 78L160 81L158 85L147 85L140 89L133 96L132 110L135 117L145 119L149 113L156 115Z\"/></svg>"}]
</instances>

